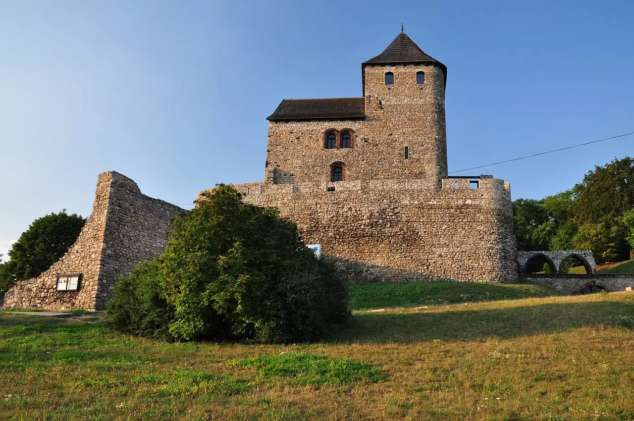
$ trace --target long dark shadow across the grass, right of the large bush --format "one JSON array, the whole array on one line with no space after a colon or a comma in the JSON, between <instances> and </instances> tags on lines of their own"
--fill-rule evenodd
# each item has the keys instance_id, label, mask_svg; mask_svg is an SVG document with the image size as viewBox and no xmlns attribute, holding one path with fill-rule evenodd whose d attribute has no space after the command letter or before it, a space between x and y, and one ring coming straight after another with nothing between
<instances>
[{"instance_id":1,"label":"long dark shadow across the grass, right of the large bush","mask_svg":"<svg viewBox=\"0 0 634 421\"><path fill-rule=\"evenodd\" d=\"M541 304L500 309L448 309L423 313L360 313L335 334L334 342L427 342L486 340L553 334L588 325L614 326L620 315L634 316L627 302Z\"/></svg>"}]
</instances>

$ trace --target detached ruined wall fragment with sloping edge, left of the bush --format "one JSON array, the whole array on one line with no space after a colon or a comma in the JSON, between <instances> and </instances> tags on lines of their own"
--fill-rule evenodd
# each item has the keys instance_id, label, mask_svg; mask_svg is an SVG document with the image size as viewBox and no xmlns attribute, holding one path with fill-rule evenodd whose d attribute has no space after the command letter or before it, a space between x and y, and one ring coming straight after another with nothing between
<instances>
[{"instance_id":1,"label":"detached ruined wall fragment with sloping edge, left of the bush","mask_svg":"<svg viewBox=\"0 0 634 421\"><path fill-rule=\"evenodd\" d=\"M47 271L22 280L5 295L4 308L100 310L121 274L162 252L171 220L183 209L141 193L132 179L99 174L93 213L77 241ZM57 276L81 273L76 292L56 291Z\"/></svg>"}]
</instances>

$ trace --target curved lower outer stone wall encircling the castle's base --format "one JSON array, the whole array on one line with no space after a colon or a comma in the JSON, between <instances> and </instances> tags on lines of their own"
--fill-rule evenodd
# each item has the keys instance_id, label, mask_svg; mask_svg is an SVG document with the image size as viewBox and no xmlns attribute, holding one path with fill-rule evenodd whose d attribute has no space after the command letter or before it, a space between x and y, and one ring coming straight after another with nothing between
<instances>
[{"instance_id":1,"label":"curved lower outer stone wall encircling the castle's base","mask_svg":"<svg viewBox=\"0 0 634 421\"><path fill-rule=\"evenodd\" d=\"M444 278L513 282L517 256L508 183L482 179L236 185L245 201L276 206L307 244L339 257L347 282ZM328 188L334 188L328 191ZM200 195L198 200L200 200Z\"/></svg>"}]
</instances>

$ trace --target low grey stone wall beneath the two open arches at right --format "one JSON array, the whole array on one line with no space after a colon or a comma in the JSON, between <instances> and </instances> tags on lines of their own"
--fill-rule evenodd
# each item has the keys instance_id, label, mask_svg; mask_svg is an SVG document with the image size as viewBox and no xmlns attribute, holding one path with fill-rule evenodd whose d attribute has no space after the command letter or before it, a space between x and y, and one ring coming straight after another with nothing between
<instances>
[{"instance_id":1,"label":"low grey stone wall beneath the two open arches at right","mask_svg":"<svg viewBox=\"0 0 634 421\"><path fill-rule=\"evenodd\" d=\"M555 288L562 294L580 294L581 290L590 286L603 288L607 292L624 291L626 287L634 287L634 275L521 275L522 279Z\"/></svg>"}]
</instances>

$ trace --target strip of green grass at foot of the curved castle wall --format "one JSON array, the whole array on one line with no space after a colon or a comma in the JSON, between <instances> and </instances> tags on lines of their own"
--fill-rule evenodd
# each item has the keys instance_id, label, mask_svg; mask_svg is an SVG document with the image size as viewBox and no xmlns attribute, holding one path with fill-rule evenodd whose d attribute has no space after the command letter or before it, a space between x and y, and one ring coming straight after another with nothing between
<instances>
[{"instance_id":1,"label":"strip of green grass at foot of the curved castle wall","mask_svg":"<svg viewBox=\"0 0 634 421\"><path fill-rule=\"evenodd\" d=\"M560 295L538 283L391 282L348 285L350 308L380 309L437 306L461 302L497 301Z\"/></svg>"}]
</instances>

